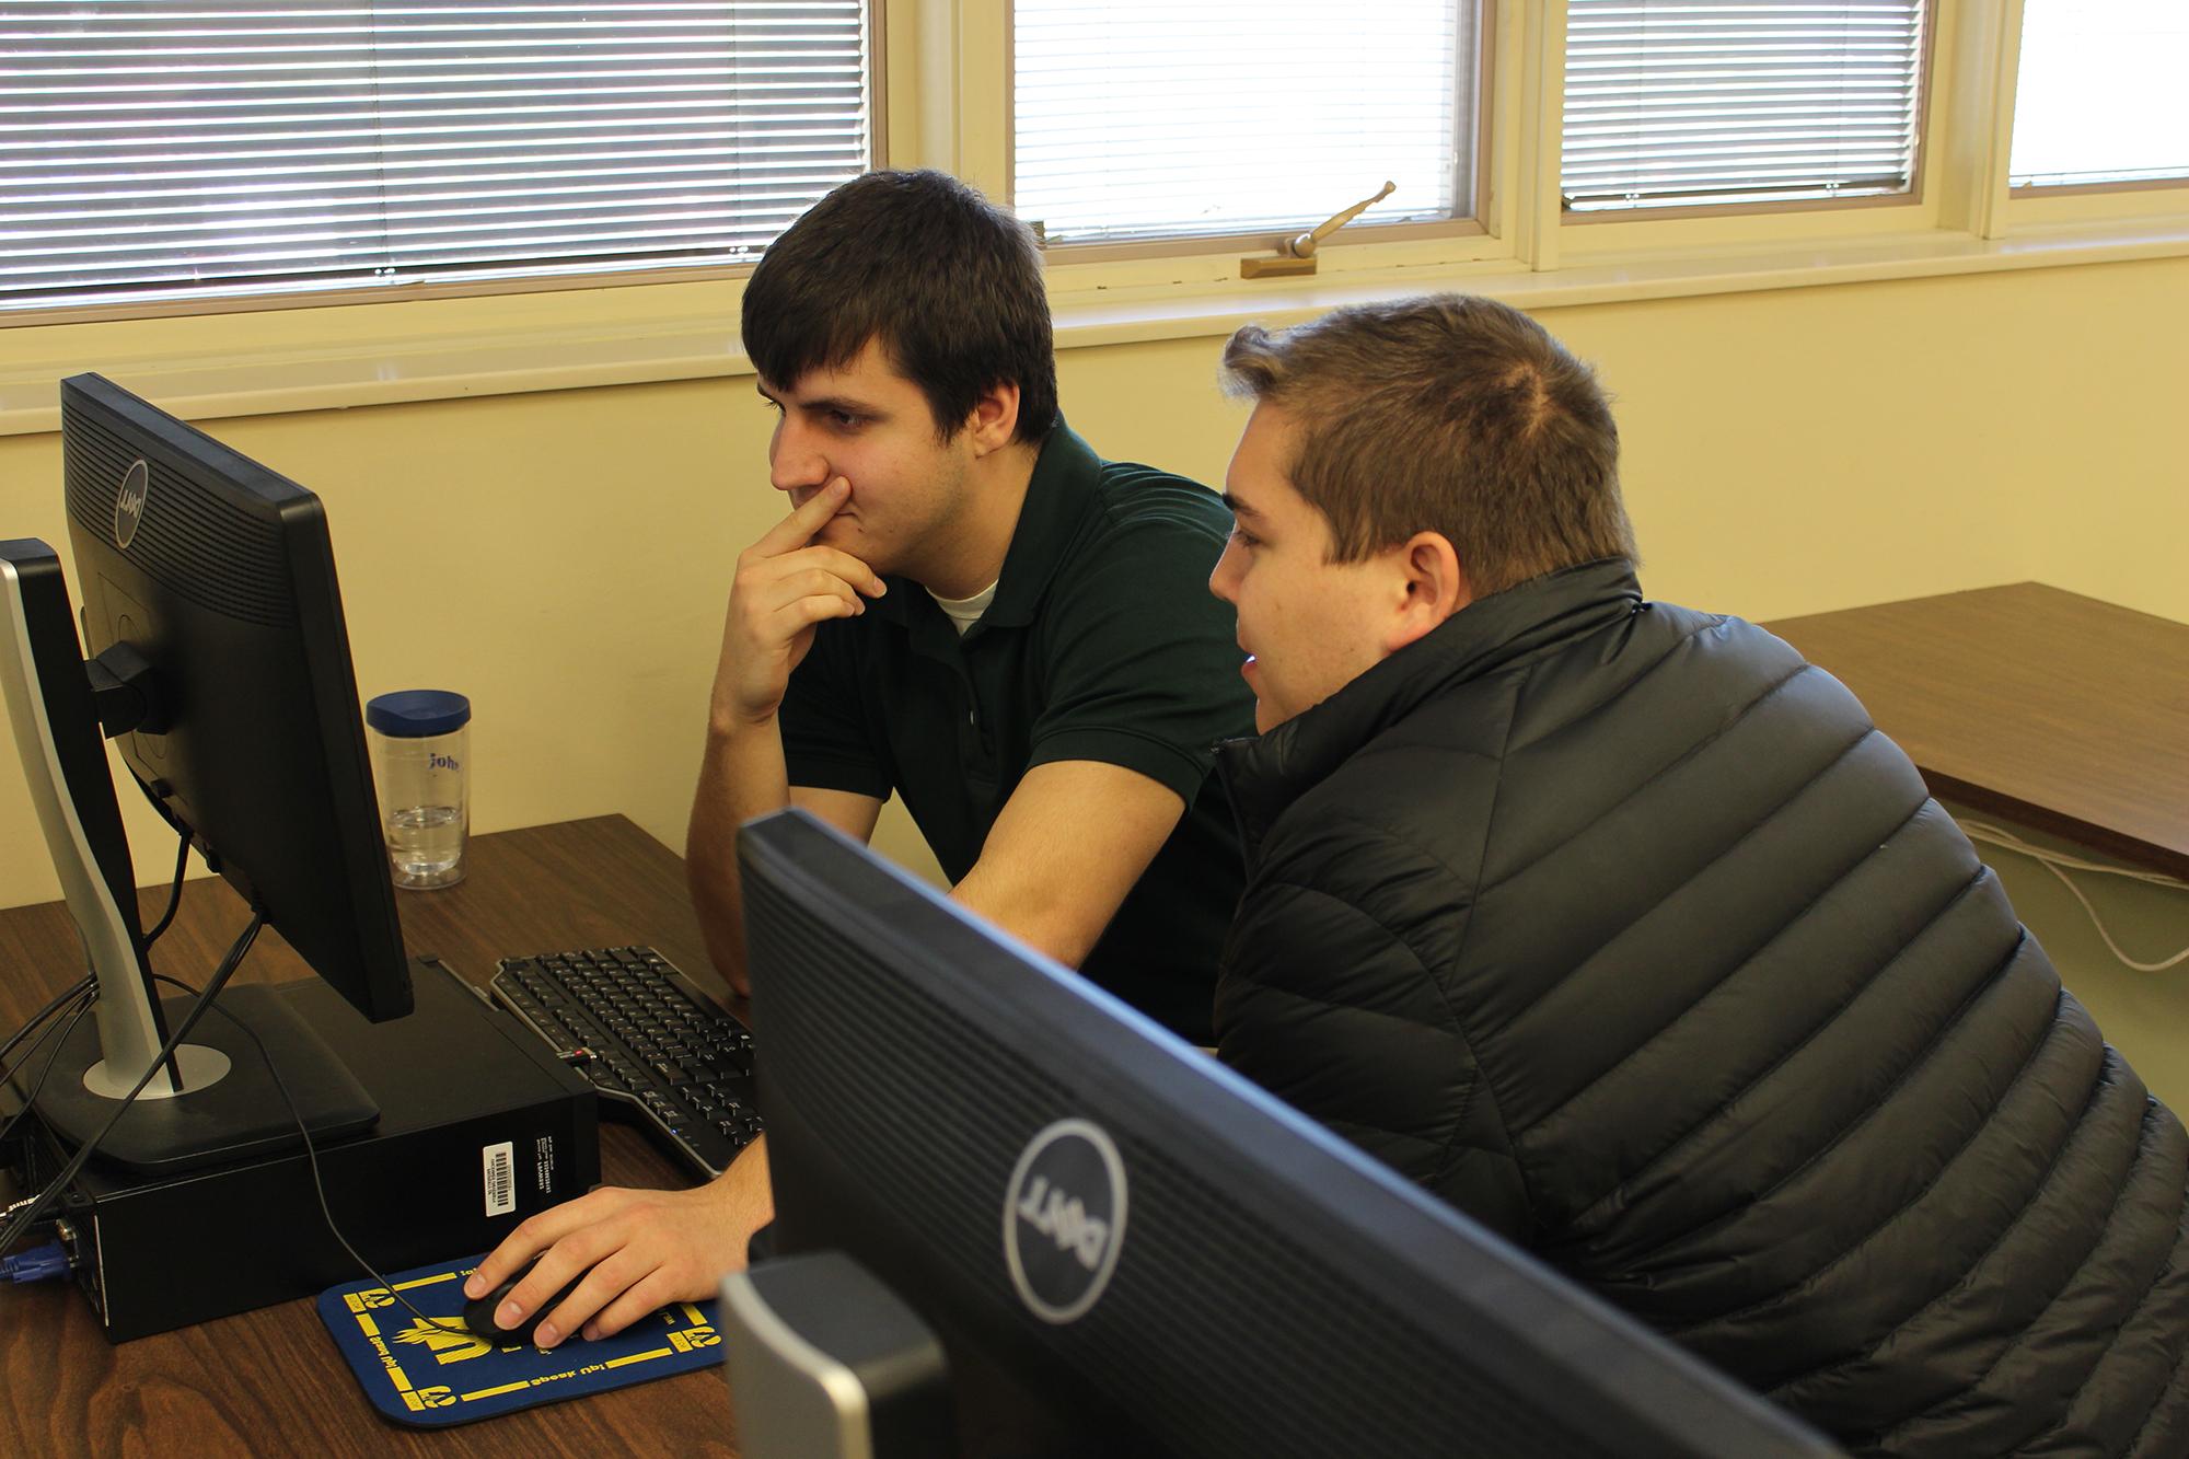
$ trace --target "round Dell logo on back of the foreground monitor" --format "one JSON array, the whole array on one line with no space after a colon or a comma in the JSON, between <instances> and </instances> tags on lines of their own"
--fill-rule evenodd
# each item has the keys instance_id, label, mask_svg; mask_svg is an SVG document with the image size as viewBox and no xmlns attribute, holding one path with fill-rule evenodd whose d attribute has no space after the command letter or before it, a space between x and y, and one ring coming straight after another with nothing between
<instances>
[{"instance_id":1,"label":"round Dell logo on back of the foreground monitor","mask_svg":"<svg viewBox=\"0 0 2189 1459\"><path fill-rule=\"evenodd\" d=\"M1049 1323L1094 1306L1125 1242L1125 1161L1101 1126L1057 1119L1018 1157L1003 1194L1003 1260Z\"/></svg>"}]
</instances>

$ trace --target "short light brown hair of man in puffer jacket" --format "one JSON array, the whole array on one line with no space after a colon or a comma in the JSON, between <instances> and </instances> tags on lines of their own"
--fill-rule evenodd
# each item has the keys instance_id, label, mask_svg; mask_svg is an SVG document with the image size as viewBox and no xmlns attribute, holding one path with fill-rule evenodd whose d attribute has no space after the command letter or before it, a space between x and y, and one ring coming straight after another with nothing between
<instances>
[{"instance_id":1,"label":"short light brown hair of man in puffer jacket","mask_svg":"<svg viewBox=\"0 0 2189 1459\"><path fill-rule=\"evenodd\" d=\"M1436 294L1337 309L1224 346L1232 394L1300 425L1287 475L1357 563L1443 532L1473 594L1635 561L1620 432L1589 366L1519 309Z\"/></svg>"}]
</instances>

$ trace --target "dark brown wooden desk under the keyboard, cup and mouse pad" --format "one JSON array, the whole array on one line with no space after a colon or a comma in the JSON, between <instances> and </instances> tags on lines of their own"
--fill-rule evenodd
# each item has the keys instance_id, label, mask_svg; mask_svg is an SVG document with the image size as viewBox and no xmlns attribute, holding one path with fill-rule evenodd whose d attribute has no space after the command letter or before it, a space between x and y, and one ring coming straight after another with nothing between
<instances>
[{"instance_id":1,"label":"dark brown wooden desk under the keyboard, cup and mouse pad","mask_svg":"<svg viewBox=\"0 0 2189 1459\"><path fill-rule=\"evenodd\" d=\"M164 889L142 900L155 918ZM707 970L683 863L619 815L477 837L464 885L398 892L396 903L412 953L438 953L473 979L517 953L650 942L727 999ZM193 881L155 966L201 981L245 922L223 883ZM0 911L0 1030L68 986L79 957L59 903ZM236 977L304 975L267 933ZM600 1163L615 1185L690 1185L644 1137L606 1122ZM366 1402L311 1301L109 1347L72 1284L0 1286L0 1385L4 1455L736 1452L718 1369L440 1433L396 1428Z\"/></svg>"}]
</instances>

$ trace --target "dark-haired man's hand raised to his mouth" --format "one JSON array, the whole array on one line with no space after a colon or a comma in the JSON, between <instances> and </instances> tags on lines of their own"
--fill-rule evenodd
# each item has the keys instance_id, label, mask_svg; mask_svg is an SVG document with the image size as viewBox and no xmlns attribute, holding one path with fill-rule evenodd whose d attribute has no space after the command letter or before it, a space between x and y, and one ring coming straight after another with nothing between
<instances>
[{"instance_id":1,"label":"dark-haired man's hand raised to his mouth","mask_svg":"<svg viewBox=\"0 0 2189 1459\"><path fill-rule=\"evenodd\" d=\"M773 719L790 688L790 670L812 648L814 627L825 618L865 613L860 594L882 596L882 578L867 563L812 541L849 495L852 482L841 475L830 480L738 554L722 662L714 675L716 730Z\"/></svg>"}]
</instances>

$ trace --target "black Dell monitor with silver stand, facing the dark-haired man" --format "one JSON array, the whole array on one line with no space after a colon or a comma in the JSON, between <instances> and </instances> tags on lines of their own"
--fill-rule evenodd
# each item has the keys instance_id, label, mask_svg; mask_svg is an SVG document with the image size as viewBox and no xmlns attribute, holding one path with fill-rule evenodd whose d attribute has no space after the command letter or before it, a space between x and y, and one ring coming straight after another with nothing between
<instances>
[{"instance_id":1,"label":"black Dell monitor with silver stand, facing the dark-haired man","mask_svg":"<svg viewBox=\"0 0 2189 1459\"><path fill-rule=\"evenodd\" d=\"M409 1012L412 990L317 497L96 375L61 381L61 451L83 642L55 552L0 543L0 686L99 977L96 1027L63 1045L37 1100L81 1144L171 1027L101 734L363 1016ZM236 988L221 1008L278 1060L313 1133L372 1126L363 1089L280 999ZM99 1150L171 1172L296 1137L250 1036L206 1019Z\"/></svg>"}]
</instances>

